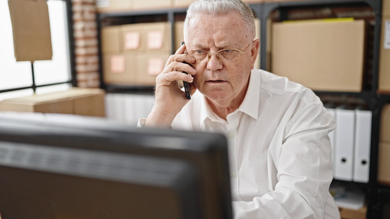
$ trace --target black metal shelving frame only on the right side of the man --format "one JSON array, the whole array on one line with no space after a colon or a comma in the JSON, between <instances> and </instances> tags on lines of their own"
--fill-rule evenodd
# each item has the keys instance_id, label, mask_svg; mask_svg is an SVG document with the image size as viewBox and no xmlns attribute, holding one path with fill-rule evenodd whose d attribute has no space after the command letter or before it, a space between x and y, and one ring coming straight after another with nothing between
<instances>
[{"instance_id":1,"label":"black metal shelving frame only on the right side of the man","mask_svg":"<svg viewBox=\"0 0 390 219\"><path fill-rule=\"evenodd\" d=\"M266 45L267 45L267 19L272 11L282 9L280 19L285 20L285 9L302 8L302 7L324 7L324 6L355 6L368 5L375 14L374 40L373 40L373 60L372 60L372 86L371 90L363 90L359 93L353 92L321 92L316 94L327 95L347 95L363 99L369 109L372 111L372 129L371 129L371 154L370 154L370 176L367 184L367 218L381 218L381 203L378 199L378 147L379 147L379 127L381 118L381 109L390 102L390 95L380 95L378 90L378 66L379 66L379 44L381 34L381 0L311 0L311 1L291 1L291 2L266 2L253 5L256 14L260 14L261 20L261 63L262 69L266 69Z\"/></svg>"}]
</instances>

